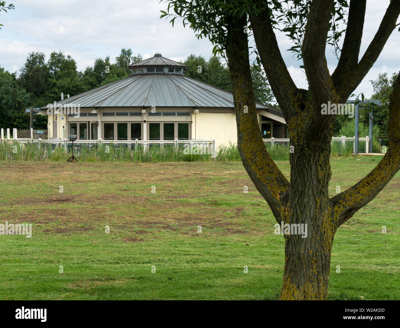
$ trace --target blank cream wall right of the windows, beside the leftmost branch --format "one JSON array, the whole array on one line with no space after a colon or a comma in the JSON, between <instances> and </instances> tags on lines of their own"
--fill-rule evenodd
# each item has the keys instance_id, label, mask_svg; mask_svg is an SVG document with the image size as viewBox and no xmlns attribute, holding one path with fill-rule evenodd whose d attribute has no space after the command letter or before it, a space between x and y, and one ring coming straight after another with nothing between
<instances>
[{"instance_id":1,"label":"blank cream wall right of the windows, beside the leftmost branch","mask_svg":"<svg viewBox=\"0 0 400 328\"><path fill-rule=\"evenodd\" d=\"M196 131L195 131L196 130ZM192 114L192 139L215 139L216 147L238 143L234 113Z\"/></svg>"}]
</instances>

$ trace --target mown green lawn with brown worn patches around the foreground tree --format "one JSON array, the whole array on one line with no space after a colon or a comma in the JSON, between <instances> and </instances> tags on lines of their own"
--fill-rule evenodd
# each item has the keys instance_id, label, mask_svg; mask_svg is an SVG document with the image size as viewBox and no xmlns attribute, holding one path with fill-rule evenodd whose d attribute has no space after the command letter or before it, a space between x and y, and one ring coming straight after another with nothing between
<instances>
[{"instance_id":1,"label":"mown green lawn with brown worn patches around the foreground tree","mask_svg":"<svg viewBox=\"0 0 400 328\"><path fill-rule=\"evenodd\" d=\"M332 160L331 195L380 158ZM240 162L0 162L0 176L0 223L33 230L0 235L0 299L278 298L284 237ZM338 229L329 299L400 299L399 195L397 174Z\"/></svg>"}]
</instances>

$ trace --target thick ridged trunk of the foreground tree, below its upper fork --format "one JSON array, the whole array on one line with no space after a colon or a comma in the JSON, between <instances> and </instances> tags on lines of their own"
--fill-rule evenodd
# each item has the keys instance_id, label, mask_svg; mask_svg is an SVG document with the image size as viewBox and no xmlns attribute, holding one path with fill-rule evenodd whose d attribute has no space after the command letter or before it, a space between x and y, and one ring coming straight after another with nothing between
<instances>
[{"instance_id":1,"label":"thick ridged trunk of the foreground tree, below its upper fork","mask_svg":"<svg viewBox=\"0 0 400 328\"><path fill-rule=\"evenodd\" d=\"M297 229L297 234L285 234L280 299L326 300L332 242L337 228L328 192L331 135L330 132L322 136L306 135L296 126L297 122L289 124L289 130L296 130L296 136L291 138L294 146L294 153L290 154L291 192L284 223L302 225L302 233Z\"/></svg>"}]
</instances>

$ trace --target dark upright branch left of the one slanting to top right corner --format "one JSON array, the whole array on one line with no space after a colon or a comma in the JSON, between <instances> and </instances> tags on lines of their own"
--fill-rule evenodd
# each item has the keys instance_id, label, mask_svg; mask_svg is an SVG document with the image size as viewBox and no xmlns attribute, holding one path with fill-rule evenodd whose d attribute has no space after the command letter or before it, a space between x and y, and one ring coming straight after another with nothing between
<instances>
[{"instance_id":1,"label":"dark upright branch left of the one slanting to top right corner","mask_svg":"<svg viewBox=\"0 0 400 328\"><path fill-rule=\"evenodd\" d=\"M366 2L366 0L350 1L346 36L344 37L338 66L332 73L332 81L335 86L340 84L344 76L358 64Z\"/></svg>"}]
</instances>

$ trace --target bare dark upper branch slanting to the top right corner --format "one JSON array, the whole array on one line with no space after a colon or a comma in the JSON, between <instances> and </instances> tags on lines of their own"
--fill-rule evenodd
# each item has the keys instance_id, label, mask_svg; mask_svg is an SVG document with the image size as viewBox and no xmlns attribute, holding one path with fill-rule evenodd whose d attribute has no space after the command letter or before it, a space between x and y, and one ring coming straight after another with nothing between
<instances>
[{"instance_id":1,"label":"bare dark upper branch slanting to the top right corner","mask_svg":"<svg viewBox=\"0 0 400 328\"><path fill-rule=\"evenodd\" d=\"M354 69L348 71L347 74L344 75L344 72L342 72L343 74L341 76L339 76L340 74L336 76L335 87L342 100L347 100L350 94L357 88L362 79L369 72L374 62L376 62L386 44L386 41L396 27L396 20L399 15L400 0L392 0L388 9L386 9L378 31L368 46L364 56L362 56L360 62Z\"/></svg>"}]
</instances>

